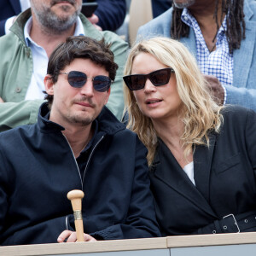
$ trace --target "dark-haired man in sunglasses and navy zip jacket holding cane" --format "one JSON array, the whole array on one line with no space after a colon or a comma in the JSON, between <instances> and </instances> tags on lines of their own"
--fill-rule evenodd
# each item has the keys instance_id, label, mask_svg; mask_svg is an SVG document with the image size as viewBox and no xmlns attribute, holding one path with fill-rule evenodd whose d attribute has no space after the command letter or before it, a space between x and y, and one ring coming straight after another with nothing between
<instances>
[{"instance_id":1,"label":"dark-haired man in sunglasses and navy zip jacket holding cane","mask_svg":"<svg viewBox=\"0 0 256 256\"><path fill-rule=\"evenodd\" d=\"M67 38L50 55L38 122L0 134L0 244L76 241L67 193L84 191L84 240L160 236L147 150L105 105L109 45Z\"/></svg>"}]
</instances>

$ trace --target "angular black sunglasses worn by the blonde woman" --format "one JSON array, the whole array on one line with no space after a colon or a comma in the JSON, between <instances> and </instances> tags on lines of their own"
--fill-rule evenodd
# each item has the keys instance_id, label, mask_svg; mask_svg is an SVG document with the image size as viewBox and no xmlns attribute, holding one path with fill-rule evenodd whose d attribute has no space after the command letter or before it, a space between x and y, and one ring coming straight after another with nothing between
<instances>
[{"instance_id":1,"label":"angular black sunglasses worn by the blonde woman","mask_svg":"<svg viewBox=\"0 0 256 256\"><path fill-rule=\"evenodd\" d=\"M145 87L147 79L149 79L154 86L167 84L171 78L171 73L174 73L174 70L172 67L167 67L148 74L125 76L123 79L130 90L141 90Z\"/></svg>"}]
</instances>

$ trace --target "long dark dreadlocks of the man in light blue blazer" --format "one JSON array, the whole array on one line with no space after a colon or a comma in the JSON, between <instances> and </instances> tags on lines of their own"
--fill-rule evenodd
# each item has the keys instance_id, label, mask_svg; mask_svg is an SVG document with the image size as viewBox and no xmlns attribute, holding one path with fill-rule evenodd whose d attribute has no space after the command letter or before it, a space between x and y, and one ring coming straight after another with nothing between
<instances>
[{"instance_id":1,"label":"long dark dreadlocks of the man in light blue blazer","mask_svg":"<svg viewBox=\"0 0 256 256\"><path fill-rule=\"evenodd\" d=\"M225 32L230 53L234 49L239 49L241 45L241 40L245 38L245 21L243 13L243 2L244 0L222 0L221 2L221 20L223 20L224 15L228 15L227 18L227 30ZM183 37L189 37L189 26L183 23L181 20L181 15L183 9L177 9L174 4L172 5L172 28L171 37L174 39L179 39ZM217 36L218 33L218 0L215 0L215 13L214 19L216 21L217 32L212 41Z\"/></svg>"}]
</instances>

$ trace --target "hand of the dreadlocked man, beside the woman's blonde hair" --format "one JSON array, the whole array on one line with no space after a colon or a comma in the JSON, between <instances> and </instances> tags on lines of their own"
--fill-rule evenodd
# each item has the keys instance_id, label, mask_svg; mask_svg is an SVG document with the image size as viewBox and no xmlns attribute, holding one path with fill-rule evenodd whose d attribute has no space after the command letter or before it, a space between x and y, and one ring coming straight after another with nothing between
<instances>
[{"instance_id":1,"label":"hand of the dreadlocked man, beside the woman's blonde hair","mask_svg":"<svg viewBox=\"0 0 256 256\"><path fill-rule=\"evenodd\" d=\"M223 105L224 103L224 88L218 81L218 79L212 75L203 75L207 80L207 85L212 92L212 98L218 105Z\"/></svg>"}]
</instances>

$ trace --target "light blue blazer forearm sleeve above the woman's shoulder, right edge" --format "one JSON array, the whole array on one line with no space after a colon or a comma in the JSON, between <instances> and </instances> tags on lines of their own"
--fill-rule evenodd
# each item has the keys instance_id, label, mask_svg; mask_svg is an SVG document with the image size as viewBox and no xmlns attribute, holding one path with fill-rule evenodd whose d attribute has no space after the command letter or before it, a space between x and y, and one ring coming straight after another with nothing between
<instances>
[{"instance_id":1,"label":"light blue blazer forearm sleeve above the woman's shoulder, right edge","mask_svg":"<svg viewBox=\"0 0 256 256\"><path fill-rule=\"evenodd\" d=\"M227 91L226 104L240 105L256 111L256 89L237 88L232 85L224 85Z\"/></svg>"}]
</instances>

